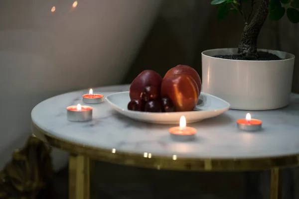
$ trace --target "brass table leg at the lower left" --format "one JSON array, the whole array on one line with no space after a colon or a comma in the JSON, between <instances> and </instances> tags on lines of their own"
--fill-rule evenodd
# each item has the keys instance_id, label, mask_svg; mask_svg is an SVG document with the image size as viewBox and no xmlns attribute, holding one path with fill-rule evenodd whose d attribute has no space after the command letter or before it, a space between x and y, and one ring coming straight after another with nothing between
<instances>
[{"instance_id":1,"label":"brass table leg at the lower left","mask_svg":"<svg viewBox=\"0 0 299 199\"><path fill-rule=\"evenodd\" d=\"M69 199L92 199L93 161L82 155L69 157Z\"/></svg>"}]
</instances>

